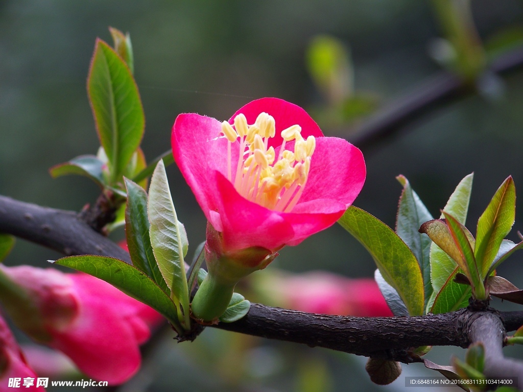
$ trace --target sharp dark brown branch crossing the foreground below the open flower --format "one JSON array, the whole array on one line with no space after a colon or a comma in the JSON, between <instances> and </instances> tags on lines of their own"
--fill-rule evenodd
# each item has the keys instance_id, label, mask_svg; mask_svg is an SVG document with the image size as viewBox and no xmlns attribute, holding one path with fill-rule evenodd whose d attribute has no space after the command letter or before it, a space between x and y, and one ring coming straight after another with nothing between
<instances>
[{"instance_id":1,"label":"sharp dark brown branch crossing the foreground below the open flower","mask_svg":"<svg viewBox=\"0 0 523 392\"><path fill-rule=\"evenodd\" d=\"M78 220L77 214L0 196L0 232L13 234L66 255L99 254L129 261L129 254ZM458 312L420 317L342 317L316 315L253 304L247 316L217 327L248 335L325 347L333 350L419 361L408 349L421 345L467 347L469 331L485 312ZM523 312L493 316L506 328L523 324ZM473 335L476 339L476 335ZM477 340L477 339L476 339ZM475 340L474 340L475 341Z\"/></svg>"}]
</instances>

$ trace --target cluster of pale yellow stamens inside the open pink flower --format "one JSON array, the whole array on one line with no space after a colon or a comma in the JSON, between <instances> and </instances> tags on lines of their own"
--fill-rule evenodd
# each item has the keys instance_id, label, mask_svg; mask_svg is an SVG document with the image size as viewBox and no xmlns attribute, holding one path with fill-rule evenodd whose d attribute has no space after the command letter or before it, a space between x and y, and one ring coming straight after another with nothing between
<instances>
[{"instance_id":1,"label":"cluster of pale yellow stamens inside the open pink flower","mask_svg":"<svg viewBox=\"0 0 523 392\"><path fill-rule=\"evenodd\" d=\"M269 139L276 134L275 120L267 113L260 113L252 125L247 124L243 114L238 114L234 125L222 123L222 133L229 141L227 178L238 193L270 210L290 212L300 200L309 176L316 146L314 136L305 140L300 125L290 126L281 131L283 143L276 157L274 147L267 148ZM234 165L231 148L238 138L240 152ZM285 144L293 140L294 151L285 149Z\"/></svg>"}]
</instances>

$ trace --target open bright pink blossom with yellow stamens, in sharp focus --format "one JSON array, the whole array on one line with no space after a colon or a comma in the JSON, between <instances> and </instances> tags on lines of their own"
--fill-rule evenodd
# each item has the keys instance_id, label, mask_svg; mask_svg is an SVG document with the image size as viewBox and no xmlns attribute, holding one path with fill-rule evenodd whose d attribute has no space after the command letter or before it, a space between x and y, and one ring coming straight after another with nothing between
<instances>
[{"instance_id":1,"label":"open bright pink blossom with yellow stamens, in sharp focus","mask_svg":"<svg viewBox=\"0 0 523 392\"><path fill-rule=\"evenodd\" d=\"M342 216L366 176L358 148L324 137L303 109L277 98L248 103L229 123L180 114L172 146L224 253L299 244Z\"/></svg>"}]
</instances>

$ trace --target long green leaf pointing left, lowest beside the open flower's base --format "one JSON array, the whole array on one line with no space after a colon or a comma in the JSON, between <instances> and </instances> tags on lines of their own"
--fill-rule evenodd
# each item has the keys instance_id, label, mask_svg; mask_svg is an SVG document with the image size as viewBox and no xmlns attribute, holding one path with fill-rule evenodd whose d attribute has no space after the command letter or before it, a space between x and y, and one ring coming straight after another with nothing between
<instances>
[{"instance_id":1,"label":"long green leaf pointing left, lowest beside the open flower's base","mask_svg":"<svg viewBox=\"0 0 523 392\"><path fill-rule=\"evenodd\" d=\"M71 256L54 261L60 266L88 273L112 284L117 289L151 306L164 315L181 333L176 305L149 276L124 261L104 256Z\"/></svg>"}]
</instances>

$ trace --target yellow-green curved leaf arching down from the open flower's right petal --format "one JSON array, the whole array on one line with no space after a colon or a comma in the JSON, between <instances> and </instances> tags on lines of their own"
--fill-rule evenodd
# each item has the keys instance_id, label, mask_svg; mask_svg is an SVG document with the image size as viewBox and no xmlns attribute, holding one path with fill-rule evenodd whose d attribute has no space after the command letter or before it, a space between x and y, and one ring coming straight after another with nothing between
<instances>
[{"instance_id":1,"label":"yellow-green curved leaf arching down from the open flower's right petal","mask_svg":"<svg viewBox=\"0 0 523 392\"><path fill-rule=\"evenodd\" d=\"M423 314L422 273L412 251L383 222L355 206L339 219L342 225L369 251L383 278L400 295L408 314Z\"/></svg>"}]
</instances>

